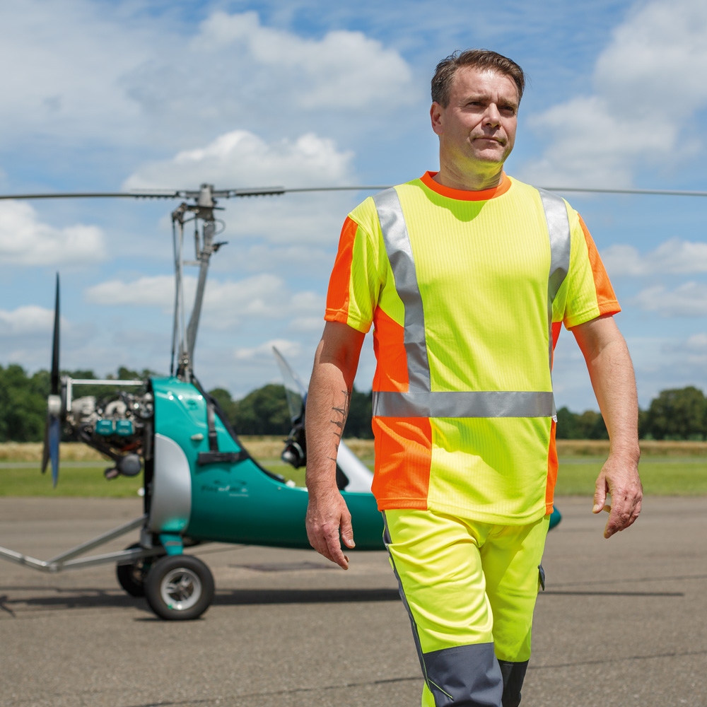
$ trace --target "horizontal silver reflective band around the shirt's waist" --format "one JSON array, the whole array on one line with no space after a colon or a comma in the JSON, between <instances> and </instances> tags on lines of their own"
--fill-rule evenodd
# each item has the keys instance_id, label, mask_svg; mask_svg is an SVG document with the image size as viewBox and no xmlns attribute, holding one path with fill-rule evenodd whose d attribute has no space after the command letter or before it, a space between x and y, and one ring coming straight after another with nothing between
<instances>
[{"instance_id":1,"label":"horizontal silver reflective band around the shirt's waist","mask_svg":"<svg viewBox=\"0 0 707 707\"><path fill-rule=\"evenodd\" d=\"M551 392L373 391L376 417L551 417L553 414Z\"/></svg>"}]
</instances>

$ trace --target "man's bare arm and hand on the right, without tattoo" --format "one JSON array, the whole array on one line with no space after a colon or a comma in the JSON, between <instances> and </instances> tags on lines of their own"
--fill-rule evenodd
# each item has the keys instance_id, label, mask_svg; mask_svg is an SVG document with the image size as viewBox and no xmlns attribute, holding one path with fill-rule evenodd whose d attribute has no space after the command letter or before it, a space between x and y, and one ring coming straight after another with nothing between
<instances>
[{"instance_id":1,"label":"man's bare arm and hand on the right, without tattoo","mask_svg":"<svg viewBox=\"0 0 707 707\"><path fill-rule=\"evenodd\" d=\"M625 530L641 513L643 489L638 478L638 398L626 341L611 316L571 329L584 354L597 402L609 431L609 458L597 478L594 513L612 495L604 537Z\"/></svg>"}]
</instances>

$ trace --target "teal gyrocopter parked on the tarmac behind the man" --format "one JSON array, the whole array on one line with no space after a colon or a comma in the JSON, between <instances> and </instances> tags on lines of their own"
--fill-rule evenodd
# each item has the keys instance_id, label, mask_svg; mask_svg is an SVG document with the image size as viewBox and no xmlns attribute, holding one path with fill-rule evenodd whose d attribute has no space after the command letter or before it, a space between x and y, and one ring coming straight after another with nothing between
<instances>
[{"instance_id":1,"label":"teal gyrocopter parked on the tarmac behind the man","mask_svg":"<svg viewBox=\"0 0 707 707\"><path fill-rule=\"evenodd\" d=\"M238 439L216 399L201 387L192 366L211 255L223 245L214 243L215 197L286 191L275 187L217 192L211 185L202 185L198 192L115 194L187 197L191 201L183 201L172 214L175 307L170 375L146 380L82 380L60 375L57 275L42 471L51 464L52 480L57 484L63 431L111 460L112 467L105 472L107 478L144 473L144 513L47 561L6 548L0 548L1 558L46 572L116 563L122 588L132 596L146 597L159 617L194 619L211 604L214 578L201 559L184 554L185 547L203 542L310 547L304 522L307 490L286 483L284 477L258 464ZM197 253L196 260L186 264L199 267L199 279L187 323L182 286L184 226L191 220L197 222ZM283 459L300 467L306 462L306 390L281 354L274 354L285 378L293 424ZM77 396L81 387L88 384L105 385L107 395L102 399ZM383 549L382 518L370 493L372 479L369 469L342 442L337 457L337 484L351 510L358 550ZM127 549L86 556L88 551L138 529L139 542Z\"/></svg>"}]
</instances>

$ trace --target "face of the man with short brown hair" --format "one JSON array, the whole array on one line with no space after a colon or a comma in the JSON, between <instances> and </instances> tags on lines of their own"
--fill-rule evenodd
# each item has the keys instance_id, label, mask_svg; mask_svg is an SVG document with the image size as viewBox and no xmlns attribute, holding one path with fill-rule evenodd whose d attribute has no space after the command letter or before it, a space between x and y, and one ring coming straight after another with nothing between
<instances>
[{"instance_id":1,"label":"face of the man with short brown hair","mask_svg":"<svg viewBox=\"0 0 707 707\"><path fill-rule=\"evenodd\" d=\"M446 108L433 103L440 162L462 173L503 165L515 142L518 88L510 76L470 66L457 69Z\"/></svg>"}]
</instances>

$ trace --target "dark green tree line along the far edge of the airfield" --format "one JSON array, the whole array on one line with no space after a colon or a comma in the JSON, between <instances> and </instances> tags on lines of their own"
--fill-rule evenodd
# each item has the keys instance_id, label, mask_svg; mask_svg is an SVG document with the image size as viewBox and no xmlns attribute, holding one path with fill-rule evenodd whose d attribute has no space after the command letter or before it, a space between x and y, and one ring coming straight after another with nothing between
<instances>
[{"instance_id":1,"label":"dark green tree line along the far edge of the airfield","mask_svg":"<svg viewBox=\"0 0 707 707\"><path fill-rule=\"evenodd\" d=\"M72 378L96 378L92 370L65 371ZM148 370L119 368L117 375L107 378L146 378ZM81 388L81 395L106 395L105 387ZM291 428L285 389L269 383L234 400L224 388L214 388L211 395L242 435L286 435ZM39 370L28 375L22 366L0 366L0 442L40 442L49 395L49 372ZM354 388L351 395L345 437L373 438L370 419L372 395ZM638 415L638 435L642 439L705 440L707 439L707 397L693 385L662 390L651 400L648 409ZM608 439L601 414L592 410L572 412L566 407L557 411L558 439Z\"/></svg>"}]
</instances>

